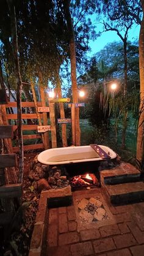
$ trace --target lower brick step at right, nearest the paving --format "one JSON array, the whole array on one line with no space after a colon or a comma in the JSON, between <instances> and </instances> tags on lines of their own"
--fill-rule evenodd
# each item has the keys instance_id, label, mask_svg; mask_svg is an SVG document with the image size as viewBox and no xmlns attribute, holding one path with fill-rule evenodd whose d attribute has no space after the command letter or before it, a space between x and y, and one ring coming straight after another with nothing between
<instances>
[{"instance_id":1,"label":"lower brick step at right, nearest the paving","mask_svg":"<svg viewBox=\"0 0 144 256\"><path fill-rule=\"evenodd\" d=\"M113 205L144 201L144 183L124 183L104 186Z\"/></svg>"}]
</instances>

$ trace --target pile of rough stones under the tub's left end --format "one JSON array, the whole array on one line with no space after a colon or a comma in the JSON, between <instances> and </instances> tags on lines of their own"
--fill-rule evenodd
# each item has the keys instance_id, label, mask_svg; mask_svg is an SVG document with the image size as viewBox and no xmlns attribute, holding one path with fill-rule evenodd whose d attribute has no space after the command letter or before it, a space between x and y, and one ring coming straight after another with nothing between
<instances>
[{"instance_id":1,"label":"pile of rough stones under the tub's left end","mask_svg":"<svg viewBox=\"0 0 144 256\"><path fill-rule=\"evenodd\" d=\"M29 179L34 189L41 192L41 190L67 187L69 180L65 168L41 164L37 156L32 161L29 170Z\"/></svg>"}]
</instances>

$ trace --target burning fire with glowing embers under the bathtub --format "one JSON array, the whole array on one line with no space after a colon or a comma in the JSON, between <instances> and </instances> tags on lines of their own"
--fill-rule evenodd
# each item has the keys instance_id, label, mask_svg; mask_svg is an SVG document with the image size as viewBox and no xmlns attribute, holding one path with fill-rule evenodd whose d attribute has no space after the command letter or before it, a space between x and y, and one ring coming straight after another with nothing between
<instances>
[{"instance_id":1,"label":"burning fire with glowing embers under the bathtub","mask_svg":"<svg viewBox=\"0 0 144 256\"><path fill-rule=\"evenodd\" d=\"M86 174L86 175L77 175L71 178L71 185L72 186L92 186L98 185L98 179L93 174Z\"/></svg>"}]
</instances>

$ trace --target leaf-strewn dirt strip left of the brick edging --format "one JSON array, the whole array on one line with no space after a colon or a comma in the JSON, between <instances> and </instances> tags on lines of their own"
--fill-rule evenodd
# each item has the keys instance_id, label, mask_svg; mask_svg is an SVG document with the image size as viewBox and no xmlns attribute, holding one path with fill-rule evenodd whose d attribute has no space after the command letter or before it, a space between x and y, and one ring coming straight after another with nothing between
<instances>
[{"instance_id":1,"label":"leaf-strewn dirt strip left of the brick edging","mask_svg":"<svg viewBox=\"0 0 144 256\"><path fill-rule=\"evenodd\" d=\"M5 241L0 244L0 256L27 256L29 254L40 194L32 187L32 181L29 180L28 174L30 164L37 154L38 152L24 154L21 206L6 231Z\"/></svg>"}]
</instances>

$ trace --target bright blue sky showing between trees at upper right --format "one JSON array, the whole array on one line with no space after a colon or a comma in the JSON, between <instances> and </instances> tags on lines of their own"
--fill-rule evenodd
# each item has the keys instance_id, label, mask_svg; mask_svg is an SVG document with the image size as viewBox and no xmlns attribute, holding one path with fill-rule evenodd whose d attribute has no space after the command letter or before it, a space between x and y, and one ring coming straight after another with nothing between
<instances>
[{"instance_id":1,"label":"bright blue sky showing between trees at upper right","mask_svg":"<svg viewBox=\"0 0 144 256\"><path fill-rule=\"evenodd\" d=\"M97 32L103 31L103 26L101 24L97 25ZM139 40L139 32L140 32L140 25L132 26L132 29L129 30L128 40L134 41ZM102 50L107 43L111 43L113 41L120 41L120 37L118 37L117 32L115 31L107 31L103 32L100 37L98 37L94 42L90 40L90 47L92 51L88 53L88 56L92 56L98 51Z\"/></svg>"}]
</instances>

